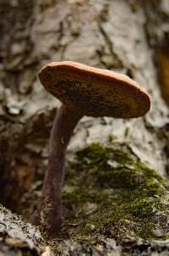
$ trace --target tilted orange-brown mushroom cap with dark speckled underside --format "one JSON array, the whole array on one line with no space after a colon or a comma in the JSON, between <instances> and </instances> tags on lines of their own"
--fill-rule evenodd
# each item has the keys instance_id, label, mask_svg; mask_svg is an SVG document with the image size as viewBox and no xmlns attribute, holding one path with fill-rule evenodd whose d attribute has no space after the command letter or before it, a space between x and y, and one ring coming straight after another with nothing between
<instances>
[{"instance_id":1,"label":"tilted orange-brown mushroom cap with dark speckled underside","mask_svg":"<svg viewBox=\"0 0 169 256\"><path fill-rule=\"evenodd\" d=\"M72 61L52 62L39 73L41 84L69 108L90 116L136 118L150 109L144 88L127 75Z\"/></svg>"}]
</instances>

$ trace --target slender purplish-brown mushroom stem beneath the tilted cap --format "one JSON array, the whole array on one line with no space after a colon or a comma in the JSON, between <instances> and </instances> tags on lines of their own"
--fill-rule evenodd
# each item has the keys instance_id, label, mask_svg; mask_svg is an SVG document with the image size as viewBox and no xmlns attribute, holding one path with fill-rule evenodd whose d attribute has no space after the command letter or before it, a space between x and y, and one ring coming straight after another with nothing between
<instances>
[{"instance_id":1,"label":"slender purplish-brown mushroom stem beneath the tilted cap","mask_svg":"<svg viewBox=\"0 0 169 256\"><path fill-rule=\"evenodd\" d=\"M65 153L68 142L79 122L77 109L61 105L52 126L49 161L42 188L41 203L31 217L34 225L44 225L50 237L55 237L62 224L62 187Z\"/></svg>"}]
</instances>

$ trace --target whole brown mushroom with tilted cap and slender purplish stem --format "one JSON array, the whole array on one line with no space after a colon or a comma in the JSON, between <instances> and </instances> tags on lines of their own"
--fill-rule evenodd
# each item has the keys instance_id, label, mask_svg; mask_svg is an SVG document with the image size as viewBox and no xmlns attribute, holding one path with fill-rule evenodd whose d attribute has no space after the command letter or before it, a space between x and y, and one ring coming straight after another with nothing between
<instances>
[{"instance_id":1,"label":"whole brown mushroom with tilted cap and slender purplish stem","mask_svg":"<svg viewBox=\"0 0 169 256\"><path fill-rule=\"evenodd\" d=\"M47 64L39 78L46 91L62 104L52 126L41 203L31 222L45 225L49 236L55 237L62 224L65 154L74 127L84 115L123 119L143 116L150 109L150 97L127 75L71 61Z\"/></svg>"}]
</instances>

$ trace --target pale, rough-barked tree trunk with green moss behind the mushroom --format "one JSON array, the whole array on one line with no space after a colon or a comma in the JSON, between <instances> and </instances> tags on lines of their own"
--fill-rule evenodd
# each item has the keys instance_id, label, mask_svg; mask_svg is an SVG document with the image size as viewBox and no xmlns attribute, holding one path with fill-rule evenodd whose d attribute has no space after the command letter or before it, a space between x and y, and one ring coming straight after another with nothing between
<instances>
[{"instance_id":1,"label":"pale, rough-barked tree trunk with green moss behind the mushroom","mask_svg":"<svg viewBox=\"0 0 169 256\"><path fill-rule=\"evenodd\" d=\"M0 14L1 203L29 221L41 196L59 104L38 81L41 67L72 60L115 70L144 86L150 112L80 120L68 147L63 231L48 244L61 255L167 250L168 1L0 0Z\"/></svg>"}]
</instances>

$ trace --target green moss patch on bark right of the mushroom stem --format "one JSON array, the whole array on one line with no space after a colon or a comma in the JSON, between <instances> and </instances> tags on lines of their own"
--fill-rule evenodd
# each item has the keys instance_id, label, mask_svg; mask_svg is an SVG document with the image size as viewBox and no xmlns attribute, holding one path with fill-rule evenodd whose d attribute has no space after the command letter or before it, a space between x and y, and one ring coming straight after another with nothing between
<instances>
[{"instance_id":1,"label":"green moss patch on bark right of the mushroom stem","mask_svg":"<svg viewBox=\"0 0 169 256\"><path fill-rule=\"evenodd\" d=\"M156 225L162 225L162 236L167 237L167 221L161 223L156 215L161 212L167 216L169 211L161 200L165 182L122 149L103 148L97 143L85 147L68 168L66 184L71 189L63 192L65 218L78 222L69 230L71 236L105 236L120 242L125 234L151 240Z\"/></svg>"}]
</instances>

